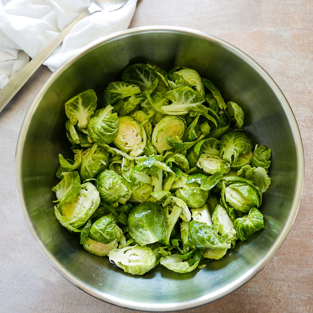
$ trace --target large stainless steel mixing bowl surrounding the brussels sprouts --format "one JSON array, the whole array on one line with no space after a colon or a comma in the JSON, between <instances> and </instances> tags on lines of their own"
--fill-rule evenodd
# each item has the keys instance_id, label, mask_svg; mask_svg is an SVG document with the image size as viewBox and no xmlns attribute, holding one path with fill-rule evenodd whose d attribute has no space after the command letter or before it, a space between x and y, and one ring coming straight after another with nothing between
<instances>
[{"instance_id":1,"label":"large stainless steel mixing bowl surrounding the brussels sprouts","mask_svg":"<svg viewBox=\"0 0 313 313\"><path fill-rule=\"evenodd\" d=\"M124 273L85 251L54 216L58 154L66 155L64 103L92 88L120 80L128 64L196 69L218 86L226 101L245 112L245 131L272 149L271 186L260 208L265 228L238 242L221 260L178 274L157 266L142 277ZM63 64L28 110L16 152L16 185L23 217L48 261L71 283L101 300L146 311L183 310L217 300L244 285L274 256L297 213L304 177L297 123L271 77L239 49L205 33L177 27L144 27L105 37Z\"/></svg>"}]
</instances>

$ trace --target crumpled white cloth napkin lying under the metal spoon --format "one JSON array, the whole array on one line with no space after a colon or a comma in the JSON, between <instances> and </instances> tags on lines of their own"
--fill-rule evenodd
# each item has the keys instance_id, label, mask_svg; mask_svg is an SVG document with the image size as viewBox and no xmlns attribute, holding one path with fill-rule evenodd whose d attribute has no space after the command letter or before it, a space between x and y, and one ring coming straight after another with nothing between
<instances>
[{"instance_id":1,"label":"crumpled white cloth napkin lying under the metal spoon","mask_svg":"<svg viewBox=\"0 0 313 313\"><path fill-rule=\"evenodd\" d=\"M44 65L55 71L86 45L127 29L136 2L78 22ZM0 0L0 89L89 6L90 0Z\"/></svg>"}]
</instances>

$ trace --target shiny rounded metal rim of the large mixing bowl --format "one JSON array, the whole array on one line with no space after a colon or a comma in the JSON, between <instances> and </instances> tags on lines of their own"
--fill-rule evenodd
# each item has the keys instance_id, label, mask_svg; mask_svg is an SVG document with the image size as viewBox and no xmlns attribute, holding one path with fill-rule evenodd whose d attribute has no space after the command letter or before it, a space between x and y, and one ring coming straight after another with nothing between
<instances>
[{"instance_id":1,"label":"shiny rounded metal rim of the large mixing bowl","mask_svg":"<svg viewBox=\"0 0 313 313\"><path fill-rule=\"evenodd\" d=\"M25 199L23 196L23 182L22 182L22 158L23 158L23 147L24 142L28 130L29 123L31 121L31 118L33 116L33 113L37 109L37 106L44 95L44 92L46 90L46 87L48 87L54 79L61 73L65 68L67 68L72 62L74 62L76 59L78 59L83 54L87 53L91 49L94 49L95 47L108 42L112 39L128 36L131 34L136 33L144 33L144 32L178 32L178 33L185 33L193 36L198 36L201 38L205 38L207 40L214 41L222 46L224 46L227 49L232 50L234 53L236 53L240 58L244 59L250 66L254 68L255 71L259 73L260 76L263 77L263 79L267 82L269 87L274 92L275 96L280 100L280 104L282 109L285 111L285 115L289 121L292 134L295 139L295 149L297 154L297 175L296 175L296 186L295 186L295 198L292 202L291 209L289 216L286 220L285 225L283 226L280 234L277 237L277 240L272 245L272 247L268 250L265 257L259 262L254 265L248 272L246 272L244 275L240 276L239 279L233 281L233 283L224 286L223 288L209 293L205 296L202 296L200 298L196 298L193 300L180 302L180 303L154 303L154 304L148 304L148 303L141 303L137 301L130 301L125 300L119 297L115 297L112 295L108 295L104 292L100 292L99 290L96 290L95 288L90 287L89 285L86 285L79 279L77 279L74 275L66 271L63 266L58 262L56 258L46 249L43 242L41 242L40 238L38 237L35 228L31 222L31 219L28 215L28 210L26 207ZM251 280L256 274L258 274L264 266L273 258L273 256L276 254L276 252L279 250L280 246L283 244L284 240L286 239L291 226L295 220L297 211L300 206L300 199L302 196L302 190L304 185L304 152L303 152L303 145L302 140L300 136L300 131L298 124L296 122L295 116L291 110L291 107L286 100L285 96L283 95L282 91L278 87L278 85L275 83L275 81L271 78L271 76L256 62L254 59L252 59L250 56L245 54L243 51L238 49L237 47L233 46L232 44L229 44L228 42L224 41L223 39L217 38L213 35L210 35L208 33L204 33L202 31L198 31L191 28L184 28L184 27L177 27L177 26L144 26L144 27L137 27L137 28L130 28L125 31L116 32L110 35L107 35L94 43L88 45L85 47L85 49L78 54L75 54L71 58L69 58L67 61L65 61L54 73L51 74L51 76L48 78L48 80L44 83L44 85L40 88L37 95L35 96L32 104L30 105L27 114L25 116L25 119L23 121L20 134L18 136L18 143L16 148L16 154L15 154L15 183L16 183L16 192L18 196L18 204L23 216L23 219L26 223L26 226L28 228L29 233L31 234L35 244L37 245L40 252L44 255L44 257L48 260L48 262L69 282L71 282L73 285L78 287L79 289L85 291L86 293L92 295L95 298L98 298L100 300L103 300L107 303L117 305L120 307L124 307L127 309L132 310L141 310L141 311L150 311L150 312L166 312L166 311L177 311L177 310L187 310L191 308L195 308L201 305L208 304L210 302L213 302L215 300L218 300L220 298L223 298L224 296L230 294L231 292L239 289L242 285L247 283L249 280Z\"/></svg>"}]
</instances>

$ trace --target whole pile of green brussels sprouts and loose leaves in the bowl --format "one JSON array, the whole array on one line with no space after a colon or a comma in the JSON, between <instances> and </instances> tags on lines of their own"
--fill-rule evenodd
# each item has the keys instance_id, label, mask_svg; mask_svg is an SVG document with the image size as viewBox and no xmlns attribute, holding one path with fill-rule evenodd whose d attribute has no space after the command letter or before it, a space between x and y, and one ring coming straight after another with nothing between
<instances>
[{"instance_id":1,"label":"whole pile of green brussels sprouts and loose leaves in the bowl","mask_svg":"<svg viewBox=\"0 0 313 313\"><path fill-rule=\"evenodd\" d=\"M252 151L239 105L193 69L133 64L121 78L100 109L93 90L65 103L59 222L134 275L190 272L264 228L271 150Z\"/></svg>"}]
</instances>

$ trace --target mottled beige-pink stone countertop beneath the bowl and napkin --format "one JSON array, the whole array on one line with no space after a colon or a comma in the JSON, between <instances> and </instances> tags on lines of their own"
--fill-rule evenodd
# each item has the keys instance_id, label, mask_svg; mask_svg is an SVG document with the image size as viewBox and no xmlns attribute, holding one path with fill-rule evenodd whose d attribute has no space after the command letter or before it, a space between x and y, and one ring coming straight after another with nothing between
<instances>
[{"instance_id":1,"label":"mottled beige-pink stone countertop beneath the bowl and napkin","mask_svg":"<svg viewBox=\"0 0 313 313\"><path fill-rule=\"evenodd\" d=\"M172 25L221 38L257 61L294 112L305 183L285 242L259 274L230 295L186 313L313 312L313 6L310 0L138 0L130 28ZM0 311L131 313L79 290L33 242L15 191L14 158L24 116L51 72L41 66L0 113Z\"/></svg>"}]
</instances>

